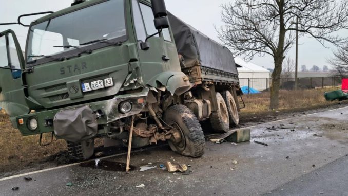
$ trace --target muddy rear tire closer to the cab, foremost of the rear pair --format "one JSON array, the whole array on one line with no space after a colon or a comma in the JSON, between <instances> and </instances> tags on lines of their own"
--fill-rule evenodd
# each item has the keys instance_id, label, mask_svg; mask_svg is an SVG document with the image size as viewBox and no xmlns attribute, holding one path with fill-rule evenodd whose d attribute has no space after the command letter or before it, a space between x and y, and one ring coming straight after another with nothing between
<instances>
[{"instance_id":1,"label":"muddy rear tire closer to the cab, foremost of the rear pair","mask_svg":"<svg viewBox=\"0 0 348 196\"><path fill-rule=\"evenodd\" d=\"M217 133L226 133L229 130L229 117L226 103L220 93L216 93L219 110L210 115L210 124Z\"/></svg>"}]
</instances>

